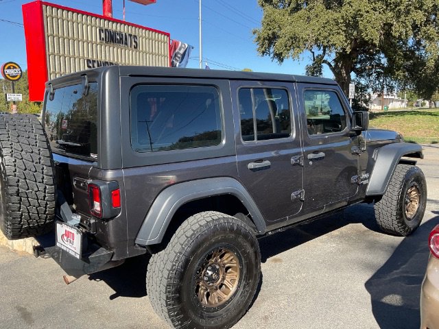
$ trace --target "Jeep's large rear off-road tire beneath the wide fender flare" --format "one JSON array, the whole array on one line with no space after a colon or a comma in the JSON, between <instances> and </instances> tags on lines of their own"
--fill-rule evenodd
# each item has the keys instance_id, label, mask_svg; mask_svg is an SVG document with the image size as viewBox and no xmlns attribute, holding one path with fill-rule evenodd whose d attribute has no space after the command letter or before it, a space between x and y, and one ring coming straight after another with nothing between
<instances>
[{"instance_id":1,"label":"Jeep's large rear off-road tire beneath the wide fender flare","mask_svg":"<svg viewBox=\"0 0 439 329\"><path fill-rule=\"evenodd\" d=\"M226 253L219 256L222 258L213 257L222 252ZM214 259L224 263L233 259L236 266L233 271L223 271L221 262L209 263ZM210 265L222 274L208 272ZM222 304L215 304L210 293L200 293L205 291L200 288L204 284L200 278L224 278L236 271L238 279L227 282L229 286L233 282L233 289L217 286L222 295L228 294L224 300L216 300ZM175 328L230 328L250 306L260 272L261 254L253 230L235 217L200 212L182 223L167 247L152 256L146 275L147 294L156 313ZM200 295L209 297L213 305L202 304Z\"/></svg>"}]
</instances>

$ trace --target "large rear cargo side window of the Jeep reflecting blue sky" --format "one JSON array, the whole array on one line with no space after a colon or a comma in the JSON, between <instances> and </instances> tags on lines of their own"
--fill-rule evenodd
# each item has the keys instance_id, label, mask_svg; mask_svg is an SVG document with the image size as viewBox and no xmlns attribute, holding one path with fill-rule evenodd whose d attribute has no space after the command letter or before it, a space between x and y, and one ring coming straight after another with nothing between
<instances>
[{"instance_id":1,"label":"large rear cargo side window of the Jeep reflecting blue sky","mask_svg":"<svg viewBox=\"0 0 439 329\"><path fill-rule=\"evenodd\" d=\"M222 118L213 86L139 85L131 90L131 145L137 152L219 145Z\"/></svg>"}]
</instances>

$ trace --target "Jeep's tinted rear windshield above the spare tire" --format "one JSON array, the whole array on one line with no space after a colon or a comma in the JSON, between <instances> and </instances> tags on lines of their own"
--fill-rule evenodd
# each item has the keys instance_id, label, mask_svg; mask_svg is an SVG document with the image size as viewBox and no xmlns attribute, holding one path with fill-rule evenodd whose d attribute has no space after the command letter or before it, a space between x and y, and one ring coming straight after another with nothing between
<instances>
[{"instance_id":1,"label":"Jeep's tinted rear windshield above the spare tire","mask_svg":"<svg viewBox=\"0 0 439 329\"><path fill-rule=\"evenodd\" d=\"M97 158L97 83L88 95L75 84L54 90L45 104L45 130L54 153Z\"/></svg>"}]
</instances>

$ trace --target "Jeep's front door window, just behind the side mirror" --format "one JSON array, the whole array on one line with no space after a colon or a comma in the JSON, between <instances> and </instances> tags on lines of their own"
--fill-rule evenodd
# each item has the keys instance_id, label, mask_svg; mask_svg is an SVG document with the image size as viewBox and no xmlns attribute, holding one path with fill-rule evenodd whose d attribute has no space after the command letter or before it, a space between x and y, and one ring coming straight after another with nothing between
<instances>
[{"instance_id":1,"label":"Jeep's front door window, just behind the side mirror","mask_svg":"<svg viewBox=\"0 0 439 329\"><path fill-rule=\"evenodd\" d=\"M304 97L308 134L342 132L346 128L346 113L335 92L305 90Z\"/></svg>"}]
</instances>

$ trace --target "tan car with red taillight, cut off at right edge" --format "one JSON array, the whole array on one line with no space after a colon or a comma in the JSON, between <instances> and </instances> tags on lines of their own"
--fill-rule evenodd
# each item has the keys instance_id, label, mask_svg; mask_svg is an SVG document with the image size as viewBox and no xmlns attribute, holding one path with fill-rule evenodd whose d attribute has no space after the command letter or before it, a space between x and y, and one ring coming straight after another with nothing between
<instances>
[{"instance_id":1,"label":"tan car with red taillight, cut off at right edge","mask_svg":"<svg viewBox=\"0 0 439 329\"><path fill-rule=\"evenodd\" d=\"M430 258L420 289L420 328L439 328L439 225L428 238Z\"/></svg>"}]
</instances>

